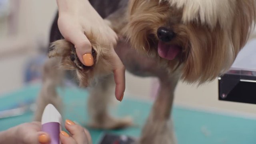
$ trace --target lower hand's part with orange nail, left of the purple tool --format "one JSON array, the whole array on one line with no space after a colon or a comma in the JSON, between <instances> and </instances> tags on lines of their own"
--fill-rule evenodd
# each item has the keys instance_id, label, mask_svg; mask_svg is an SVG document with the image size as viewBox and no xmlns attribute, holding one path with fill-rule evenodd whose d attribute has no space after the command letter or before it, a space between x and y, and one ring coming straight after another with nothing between
<instances>
[{"instance_id":1,"label":"lower hand's part with orange nail, left of the purple tool","mask_svg":"<svg viewBox=\"0 0 256 144\"><path fill-rule=\"evenodd\" d=\"M0 133L0 144L48 144L50 136L41 132L40 122L20 124Z\"/></svg>"}]
</instances>

